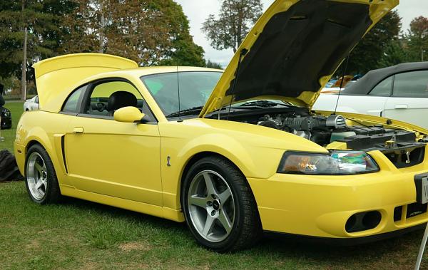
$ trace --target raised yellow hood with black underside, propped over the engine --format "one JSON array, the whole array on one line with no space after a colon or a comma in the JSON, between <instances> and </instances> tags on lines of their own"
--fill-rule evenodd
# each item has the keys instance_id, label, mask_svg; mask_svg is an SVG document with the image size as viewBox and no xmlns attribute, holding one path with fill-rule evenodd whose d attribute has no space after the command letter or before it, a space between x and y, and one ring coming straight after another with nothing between
<instances>
[{"instance_id":1,"label":"raised yellow hood with black underside, propped over the engine","mask_svg":"<svg viewBox=\"0 0 428 270\"><path fill-rule=\"evenodd\" d=\"M399 0L276 0L235 53L200 117L231 102L255 99L311 108L352 48L397 4Z\"/></svg>"}]
</instances>

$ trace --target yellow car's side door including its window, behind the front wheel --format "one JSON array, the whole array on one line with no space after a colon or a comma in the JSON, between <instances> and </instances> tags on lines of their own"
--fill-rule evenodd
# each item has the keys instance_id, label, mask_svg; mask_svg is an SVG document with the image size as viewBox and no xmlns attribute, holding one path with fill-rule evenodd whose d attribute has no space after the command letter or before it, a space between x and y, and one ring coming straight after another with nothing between
<instances>
[{"instance_id":1,"label":"yellow car's side door including its window, behind the front wheel","mask_svg":"<svg viewBox=\"0 0 428 270\"><path fill-rule=\"evenodd\" d=\"M121 95L116 95L120 93ZM141 93L127 81L99 81L88 86L81 113L71 120L65 138L68 174L76 189L162 205L158 125L119 123L114 110L133 105L141 110ZM126 97L135 96L136 103ZM122 96L122 97L121 97ZM119 98L118 98L119 97ZM113 103L112 103L113 104Z\"/></svg>"}]
</instances>

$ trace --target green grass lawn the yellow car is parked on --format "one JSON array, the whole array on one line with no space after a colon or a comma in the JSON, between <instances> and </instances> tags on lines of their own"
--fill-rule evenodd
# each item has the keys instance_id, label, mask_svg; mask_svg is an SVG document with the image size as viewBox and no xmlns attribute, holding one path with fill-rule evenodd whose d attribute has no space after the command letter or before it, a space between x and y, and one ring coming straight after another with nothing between
<instances>
[{"instance_id":1,"label":"green grass lawn the yellow car is parked on","mask_svg":"<svg viewBox=\"0 0 428 270\"><path fill-rule=\"evenodd\" d=\"M16 125L22 103L7 107ZM10 149L14 130L2 134ZM39 206L23 182L0 184L0 269L412 269L422 234L351 247L270 236L215 254L184 224L71 198Z\"/></svg>"}]
</instances>

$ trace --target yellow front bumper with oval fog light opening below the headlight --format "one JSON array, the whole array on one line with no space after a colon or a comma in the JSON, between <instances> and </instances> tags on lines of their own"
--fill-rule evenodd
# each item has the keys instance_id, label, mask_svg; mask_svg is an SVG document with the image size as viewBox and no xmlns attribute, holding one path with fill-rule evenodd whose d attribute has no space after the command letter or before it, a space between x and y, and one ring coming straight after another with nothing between
<instances>
[{"instance_id":1,"label":"yellow front bumper with oval fog light opening below the headlight","mask_svg":"<svg viewBox=\"0 0 428 270\"><path fill-rule=\"evenodd\" d=\"M310 237L360 238L385 234L428 222L428 212L407 217L416 202L414 176L428 172L428 160L397 169L381 152L370 152L380 172L350 176L281 175L248 178L258 203L263 229ZM397 212L401 207L401 212ZM395 218L394 218L395 210ZM373 229L348 232L348 219L379 212ZM399 219L397 217L399 216Z\"/></svg>"}]
</instances>

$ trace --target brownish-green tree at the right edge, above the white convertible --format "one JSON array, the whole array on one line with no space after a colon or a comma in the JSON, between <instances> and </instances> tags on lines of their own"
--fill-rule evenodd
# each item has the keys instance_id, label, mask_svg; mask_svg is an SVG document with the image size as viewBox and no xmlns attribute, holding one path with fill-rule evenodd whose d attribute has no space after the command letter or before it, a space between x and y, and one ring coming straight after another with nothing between
<instances>
[{"instance_id":1,"label":"brownish-green tree at the right edge, above the white convertible","mask_svg":"<svg viewBox=\"0 0 428 270\"><path fill-rule=\"evenodd\" d=\"M419 16L413 19L406 40L411 60L426 61L428 59L428 18Z\"/></svg>"}]
</instances>

